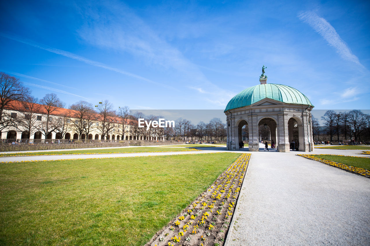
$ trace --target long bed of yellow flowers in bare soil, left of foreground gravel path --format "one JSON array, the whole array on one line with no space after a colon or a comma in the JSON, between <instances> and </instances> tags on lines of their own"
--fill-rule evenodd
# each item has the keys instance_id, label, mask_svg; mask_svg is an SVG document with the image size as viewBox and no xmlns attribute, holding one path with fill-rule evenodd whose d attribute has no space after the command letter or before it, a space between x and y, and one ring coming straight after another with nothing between
<instances>
[{"instance_id":1,"label":"long bed of yellow flowers in bare soil, left of foreground gravel path","mask_svg":"<svg viewBox=\"0 0 370 246\"><path fill-rule=\"evenodd\" d=\"M217 180L147 246L223 245L250 154L241 154Z\"/></svg>"}]
</instances>

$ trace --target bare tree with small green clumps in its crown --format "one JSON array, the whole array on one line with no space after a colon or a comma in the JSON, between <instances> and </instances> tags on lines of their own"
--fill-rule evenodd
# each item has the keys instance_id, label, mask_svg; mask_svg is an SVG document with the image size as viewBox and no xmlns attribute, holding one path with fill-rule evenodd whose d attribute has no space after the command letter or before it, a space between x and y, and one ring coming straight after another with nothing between
<instances>
[{"instance_id":1,"label":"bare tree with small green clumps in its crown","mask_svg":"<svg viewBox=\"0 0 370 246\"><path fill-rule=\"evenodd\" d=\"M108 134L115 127L114 123L116 122L113 105L108 100L104 100L104 102L99 102L98 105L95 105L95 110L99 116L97 129L100 131L103 139L104 137L107 138Z\"/></svg>"}]
</instances>

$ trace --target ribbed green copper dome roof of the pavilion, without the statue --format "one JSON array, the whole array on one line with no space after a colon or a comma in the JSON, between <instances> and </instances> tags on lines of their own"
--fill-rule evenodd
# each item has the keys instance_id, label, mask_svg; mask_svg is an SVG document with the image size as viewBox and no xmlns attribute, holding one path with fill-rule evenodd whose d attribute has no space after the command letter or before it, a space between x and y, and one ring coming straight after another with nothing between
<instances>
[{"instance_id":1,"label":"ribbed green copper dome roof of the pavilion, without the statue","mask_svg":"<svg viewBox=\"0 0 370 246\"><path fill-rule=\"evenodd\" d=\"M287 85L262 84L252 86L234 96L226 106L224 112L238 107L249 106L265 98L284 103L313 106L310 100L297 89Z\"/></svg>"}]
</instances>

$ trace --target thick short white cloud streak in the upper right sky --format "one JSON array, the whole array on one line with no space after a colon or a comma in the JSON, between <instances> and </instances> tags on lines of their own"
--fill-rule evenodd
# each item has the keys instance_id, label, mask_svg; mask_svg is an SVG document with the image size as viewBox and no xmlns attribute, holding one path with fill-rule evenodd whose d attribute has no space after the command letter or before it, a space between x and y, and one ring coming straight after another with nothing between
<instances>
[{"instance_id":1,"label":"thick short white cloud streak in the upper right sky","mask_svg":"<svg viewBox=\"0 0 370 246\"><path fill-rule=\"evenodd\" d=\"M337 31L327 20L318 16L313 11L302 12L298 15L298 18L309 24L310 27L319 33L343 59L354 62L359 65L361 69L365 69L360 63L359 58L352 53L346 42L342 40Z\"/></svg>"}]
</instances>

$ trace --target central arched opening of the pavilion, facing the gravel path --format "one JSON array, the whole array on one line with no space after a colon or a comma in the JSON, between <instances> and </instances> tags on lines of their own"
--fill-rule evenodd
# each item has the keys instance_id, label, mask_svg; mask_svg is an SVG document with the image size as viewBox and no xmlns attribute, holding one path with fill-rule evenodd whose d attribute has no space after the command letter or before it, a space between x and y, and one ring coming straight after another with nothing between
<instances>
[{"instance_id":1,"label":"central arched opening of the pavilion, facing the gravel path","mask_svg":"<svg viewBox=\"0 0 370 246\"><path fill-rule=\"evenodd\" d=\"M258 140L270 144L269 148L277 150L277 129L276 121L272 118L262 118L258 123Z\"/></svg>"}]
</instances>

